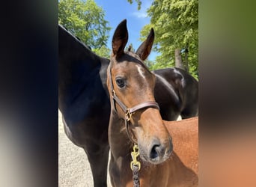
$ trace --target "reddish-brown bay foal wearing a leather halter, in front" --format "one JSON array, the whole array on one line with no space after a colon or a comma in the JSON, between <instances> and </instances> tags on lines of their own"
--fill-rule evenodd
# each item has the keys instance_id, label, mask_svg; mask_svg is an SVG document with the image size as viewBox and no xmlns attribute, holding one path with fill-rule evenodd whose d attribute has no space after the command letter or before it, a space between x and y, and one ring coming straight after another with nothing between
<instances>
[{"instance_id":1,"label":"reddish-brown bay foal wearing a leather halter, in front","mask_svg":"<svg viewBox=\"0 0 256 187\"><path fill-rule=\"evenodd\" d=\"M191 124L195 131L190 131L184 121L169 123L162 120L154 96L156 76L143 63L150 54L153 37L151 29L139 51L124 52L128 40L127 22L124 20L116 28L112 39L107 79L112 108L109 120L109 174L112 186L133 186L130 168L133 144L138 144L141 163L136 165L141 168L141 186L198 186L195 173L198 161L196 126ZM174 134L174 146L180 146L178 154L173 151L170 132ZM190 132L195 133L190 136ZM191 141L189 138L192 137ZM188 144L194 147L187 147ZM192 160L182 154L184 152L190 152L188 156L192 155Z\"/></svg>"}]
</instances>

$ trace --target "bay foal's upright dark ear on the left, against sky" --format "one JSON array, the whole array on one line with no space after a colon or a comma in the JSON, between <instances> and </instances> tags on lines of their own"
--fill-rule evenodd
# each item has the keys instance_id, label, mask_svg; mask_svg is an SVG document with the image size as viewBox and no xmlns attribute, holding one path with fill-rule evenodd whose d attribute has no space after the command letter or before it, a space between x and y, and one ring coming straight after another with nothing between
<instances>
[{"instance_id":1,"label":"bay foal's upright dark ear on the left, against sky","mask_svg":"<svg viewBox=\"0 0 256 187\"><path fill-rule=\"evenodd\" d=\"M112 38L112 51L117 58L124 54L124 47L127 45L127 41L127 19L124 19L115 29L115 33Z\"/></svg>"}]
</instances>

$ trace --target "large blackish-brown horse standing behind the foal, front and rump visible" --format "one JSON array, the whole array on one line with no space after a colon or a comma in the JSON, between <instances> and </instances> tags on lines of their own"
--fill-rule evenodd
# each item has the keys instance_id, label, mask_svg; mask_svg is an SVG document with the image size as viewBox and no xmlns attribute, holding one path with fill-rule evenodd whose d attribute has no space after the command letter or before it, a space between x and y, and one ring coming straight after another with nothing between
<instances>
[{"instance_id":1,"label":"large blackish-brown horse standing behind the foal, front and rump visible","mask_svg":"<svg viewBox=\"0 0 256 187\"><path fill-rule=\"evenodd\" d=\"M58 106L70 141L85 150L94 186L106 186L109 157L109 93L106 87L109 59L100 58L58 26ZM141 50L143 45L138 48ZM164 120L198 114L198 82L177 68L154 71L155 98Z\"/></svg>"}]
</instances>

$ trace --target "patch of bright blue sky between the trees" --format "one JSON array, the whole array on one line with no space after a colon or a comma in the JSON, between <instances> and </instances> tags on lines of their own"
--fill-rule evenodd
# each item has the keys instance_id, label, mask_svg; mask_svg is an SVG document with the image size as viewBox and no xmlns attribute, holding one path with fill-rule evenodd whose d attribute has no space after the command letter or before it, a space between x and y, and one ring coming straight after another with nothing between
<instances>
[{"instance_id":1,"label":"patch of bright blue sky between the trees","mask_svg":"<svg viewBox=\"0 0 256 187\"><path fill-rule=\"evenodd\" d=\"M112 36L114 34L115 28L118 24L127 19L127 28L129 33L129 43L132 43L132 46L135 49L138 49L138 46L141 44L140 31L150 23L150 17L147 17L147 8L150 7L153 0L142 0L141 10L137 10L137 3L135 0L132 4L129 4L127 0L95 0L98 6L103 7L105 10L106 16L105 19L109 21L109 26L112 28L109 32L108 47L112 49ZM149 33L150 31L148 31ZM149 60L154 60L156 57L155 52L151 52L148 57Z\"/></svg>"}]
</instances>

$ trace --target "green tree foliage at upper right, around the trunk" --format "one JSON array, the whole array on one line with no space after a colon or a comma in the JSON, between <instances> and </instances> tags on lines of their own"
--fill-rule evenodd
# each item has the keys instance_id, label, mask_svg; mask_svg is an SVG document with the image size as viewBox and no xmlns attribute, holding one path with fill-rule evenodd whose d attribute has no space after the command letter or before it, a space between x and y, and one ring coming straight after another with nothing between
<instances>
[{"instance_id":1,"label":"green tree foliage at upper right, around the trunk","mask_svg":"<svg viewBox=\"0 0 256 187\"><path fill-rule=\"evenodd\" d=\"M174 67L174 50L189 49L189 71L198 78L198 0L155 0L147 10L150 24L141 31L141 40L154 28L153 50L161 55L150 69Z\"/></svg>"}]
</instances>

